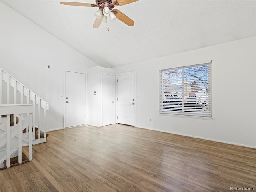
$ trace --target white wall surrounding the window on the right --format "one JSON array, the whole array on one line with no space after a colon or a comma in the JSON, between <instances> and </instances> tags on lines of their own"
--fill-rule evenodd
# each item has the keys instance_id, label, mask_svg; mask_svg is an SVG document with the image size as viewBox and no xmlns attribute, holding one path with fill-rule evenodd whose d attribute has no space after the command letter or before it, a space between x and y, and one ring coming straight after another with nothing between
<instances>
[{"instance_id":1,"label":"white wall surrounding the window on the right","mask_svg":"<svg viewBox=\"0 0 256 192\"><path fill-rule=\"evenodd\" d=\"M136 126L256 148L256 37L114 68L136 71ZM160 69L212 60L212 120L158 114ZM149 121L152 118L152 122Z\"/></svg>"}]
</instances>

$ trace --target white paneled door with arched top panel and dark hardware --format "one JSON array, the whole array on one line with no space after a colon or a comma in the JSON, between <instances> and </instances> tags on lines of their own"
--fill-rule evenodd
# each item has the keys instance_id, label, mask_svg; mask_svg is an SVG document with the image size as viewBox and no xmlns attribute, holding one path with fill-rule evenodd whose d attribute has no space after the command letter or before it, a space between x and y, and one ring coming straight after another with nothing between
<instances>
[{"instance_id":1,"label":"white paneled door with arched top panel and dark hardware","mask_svg":"<svg viewBox=\"0 0 256 192\"><path fill-rule=\"evenodd\" d=\"M135 125L135 73L117 76L117 122Z\"/></svg>"}]
</instances>

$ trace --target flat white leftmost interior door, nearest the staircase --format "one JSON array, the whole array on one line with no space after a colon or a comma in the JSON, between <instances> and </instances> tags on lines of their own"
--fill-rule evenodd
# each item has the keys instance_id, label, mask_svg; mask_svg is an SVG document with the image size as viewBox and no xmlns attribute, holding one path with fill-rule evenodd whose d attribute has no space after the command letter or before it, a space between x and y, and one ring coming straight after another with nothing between
<instances>
[{"instance_id":1,"label":"flat white leftmost interior door, nearest the staircase","mask_svg":"<svg viewBox=\"0 0 256 192\"><path fill-rule=\"evenodd\" d=\"M86 76L66 71L65 127L86 124Z\"/></svg>"}]
</instances>

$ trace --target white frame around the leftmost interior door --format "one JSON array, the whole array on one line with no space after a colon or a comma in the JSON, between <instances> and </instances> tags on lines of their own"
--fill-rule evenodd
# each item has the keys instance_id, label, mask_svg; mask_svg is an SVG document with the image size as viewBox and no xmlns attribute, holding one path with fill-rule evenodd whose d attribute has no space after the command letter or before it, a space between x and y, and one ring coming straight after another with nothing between
<instances>
[{"instance_id":1,"label":"white frame around the leftmost interior door","mask_svg":"<svg viewBox=\"0 0 256 192\"><path fill-rule=\"evenodd\" d=\"M64 71L64 88L63 88L63 94L64 97L62 97L62 102L63 102L63 129L66 129L66 72L72 72L72 73L80 73L85 75L85 125L87 125L87 105L88 105L88 96L87 96L87 74L86 73L81 73L77 71L70 71L70 70L65 70ZM68 127L70 128L70 127Z\"/></svg>"}]
</instances>

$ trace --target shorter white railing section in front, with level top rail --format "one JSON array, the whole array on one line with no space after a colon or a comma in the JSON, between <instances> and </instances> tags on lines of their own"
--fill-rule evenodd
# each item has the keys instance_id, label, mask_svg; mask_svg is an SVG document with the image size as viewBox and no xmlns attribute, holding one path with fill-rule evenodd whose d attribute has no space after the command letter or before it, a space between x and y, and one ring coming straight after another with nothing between
<instances>
[{"instance_id":1,"label":"shorter white railing section in front, with level top rail","mask_svg":"<svg viewBox=\"0 0 256 192\"><path fill-rule=\"evenodd\" d=\"M10 115L18 114L19 122L15 126L10 126ZM28 114L26 118L22 118L23 114ZM7 115L6 133L0 136L0 146L6 143L6 167L10 167L10 152L11 152L11 139L18 136L18 162L22 163L22 132L24 128L29 129L28 139L28 159L32 160L32 117L34 116L34 104L11 104L0 105L0 116ZM15 121L16 115L14 115ZM17 132L18 126L18 134Z\"/></svg>"}]
</instances>

